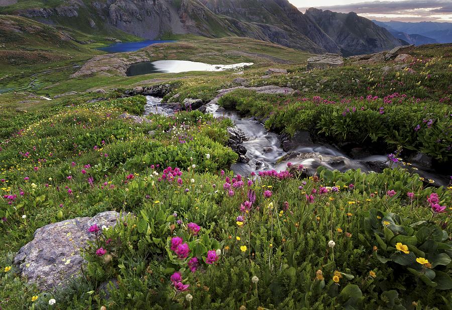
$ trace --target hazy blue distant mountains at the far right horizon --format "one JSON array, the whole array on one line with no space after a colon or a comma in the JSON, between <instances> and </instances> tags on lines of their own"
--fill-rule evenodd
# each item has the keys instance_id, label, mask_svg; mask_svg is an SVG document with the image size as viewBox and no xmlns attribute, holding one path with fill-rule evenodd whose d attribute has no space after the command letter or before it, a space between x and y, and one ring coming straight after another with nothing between
<instances>
[{"instance_id":1,"label":"hazy blue distant mountains at the far right horizon","mask_svg":"<svg viewBox=\"0 0 452 310\"><path fill-rule=\"evenodd\" d=\"M452 23L373 22L386 28L396 38L411 44L452 43Z\"/></svg>"}]
</instances>

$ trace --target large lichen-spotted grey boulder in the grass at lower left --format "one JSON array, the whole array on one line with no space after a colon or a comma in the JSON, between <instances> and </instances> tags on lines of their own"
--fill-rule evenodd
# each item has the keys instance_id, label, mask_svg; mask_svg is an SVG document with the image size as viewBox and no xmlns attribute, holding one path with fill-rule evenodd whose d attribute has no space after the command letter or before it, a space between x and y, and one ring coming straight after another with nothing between
<instances>
[{"instance_id":1,"label":"large lichen-spotted grey boulder in the grass at lower left","mask_svg":"<svg viewBox=\"0 0 452 310\"><path fill-rule=\"evenodd\" d=\"M75 218L38 228L34 239L19 250L14 263L21 275L40 290L63 288L81 273L84 258L80 249L96 238L88 228L93 224L99 228L115 226L120 217L116 211L106 211L92 218Z\"/></svg>"}]
</instances>

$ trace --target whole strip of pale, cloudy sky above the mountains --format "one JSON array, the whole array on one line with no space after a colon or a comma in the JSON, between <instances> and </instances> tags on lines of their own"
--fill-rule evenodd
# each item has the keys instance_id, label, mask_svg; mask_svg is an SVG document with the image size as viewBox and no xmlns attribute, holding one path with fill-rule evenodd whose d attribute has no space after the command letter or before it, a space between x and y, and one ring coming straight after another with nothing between
<instances>
[{"instance_id":1,"label":"whole strip of pale, cloudy sky above the mountains","mask_svg":"<svg viewBox=\"0 0 452 310\"><path fill-rule=\"evenodd\" d=\"M356 12L368 19L401 22L452 22L452 0L289 0L304 13L314 7L333 12Z\"/></svg>"}]
</instances>

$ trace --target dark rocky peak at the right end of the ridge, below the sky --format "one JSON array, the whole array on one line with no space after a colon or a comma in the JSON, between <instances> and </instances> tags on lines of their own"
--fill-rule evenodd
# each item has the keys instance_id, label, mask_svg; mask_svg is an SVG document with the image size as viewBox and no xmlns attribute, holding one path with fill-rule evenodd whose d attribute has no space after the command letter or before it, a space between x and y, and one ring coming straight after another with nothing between
<instances>
[{"instance_id":1,"label":"dark rocky peak at the right end of the ridge, below the sky","mask_svg":"<svg viewBox=\"0 0 452 310\"><path fill-rule=\"evenodd\" d=\"M389 31L356 13L310 8L305 14L340 47L344 56L382 52L401 45Z\"/></svg>"}]
</instances>

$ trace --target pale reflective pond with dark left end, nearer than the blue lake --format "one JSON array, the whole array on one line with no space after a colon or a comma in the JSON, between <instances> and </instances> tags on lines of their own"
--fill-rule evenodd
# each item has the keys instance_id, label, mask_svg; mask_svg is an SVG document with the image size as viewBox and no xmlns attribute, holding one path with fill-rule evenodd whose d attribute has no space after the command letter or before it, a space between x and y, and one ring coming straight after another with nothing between
<instances>
[{"instance_id":1,"label":"pale reflective pond with dark left end, nearer than the blue lake","mask_svg":"<svg viewBox=\"0 0 452 310\"><path fill-rule=\"evenodd\" d=\"M158 60L133 64L127 69L127 76L136 76L149 73L180 73L188 71L223 71L245 68L253 65L252 62L243 62L232 65L210 65L202 62L187 60Z\"/></svg>"}]
</instances>

